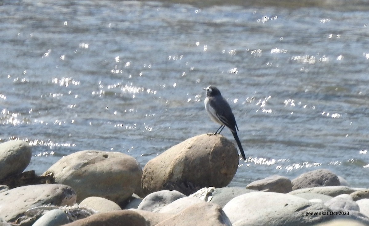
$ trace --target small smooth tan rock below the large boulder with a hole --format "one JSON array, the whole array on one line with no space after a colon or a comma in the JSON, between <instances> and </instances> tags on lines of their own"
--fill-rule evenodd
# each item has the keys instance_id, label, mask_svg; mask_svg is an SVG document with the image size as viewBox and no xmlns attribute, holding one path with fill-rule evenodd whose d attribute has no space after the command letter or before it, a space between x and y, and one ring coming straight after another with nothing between
<instances>
[{"instance_id":1,"label":"small smooth tan rock below the large boulder with a hole","mask_svg":"<svg viewBox=\"0 0 369 226\"><path fill-rule=\"evenodd\" d=\"M99 213L106 213L116 210L121 210L118 204L116 204L113 201L110 201L106 198L101 197L88 197L82 200L79 204L80 206L84 206L86 208L93 209L94 211L97 211Z\"/></svg>"}]
</instances>

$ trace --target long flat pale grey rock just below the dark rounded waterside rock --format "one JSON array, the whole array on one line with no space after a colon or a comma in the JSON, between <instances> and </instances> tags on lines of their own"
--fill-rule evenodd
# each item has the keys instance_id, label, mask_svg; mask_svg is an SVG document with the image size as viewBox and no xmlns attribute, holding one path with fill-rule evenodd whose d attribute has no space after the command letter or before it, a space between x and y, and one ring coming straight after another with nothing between
<instances>
[{"instance_id":1,"label":"long flat pale grey rock just below the dark rounded waterside rock","mask_svg":"<svg viewBox=\"0 0 369 226\"><path fill-rule=\"evenodd\" d=\"M296 195L300 193L317 193L334 197L341 194L351 194L354 191L357 191L357 188L350 188L346 186L329 186L329 187L301 188L291 191L288 194Z\"/></svg>"}]
</instances>

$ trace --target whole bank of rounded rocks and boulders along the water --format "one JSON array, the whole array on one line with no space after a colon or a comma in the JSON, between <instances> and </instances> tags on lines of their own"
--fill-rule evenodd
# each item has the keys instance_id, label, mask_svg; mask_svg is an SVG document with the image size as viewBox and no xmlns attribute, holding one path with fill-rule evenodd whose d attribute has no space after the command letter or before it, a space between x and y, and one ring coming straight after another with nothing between
<instances>
[{"instance_id":1,"label":"whole bank of rounded rocks and boulders along the water","mask_svg":"<svg viewBox=\"0 0 369 226\"><path fill-rule=\"evenodd\" d=\"M0 144L0 226L369 225L368 188L329 170L227 187L239 156L221 135L187 139L143 170L127 154L84 150L25 180L31 153Z\"/></svg>"}]
</instances>

